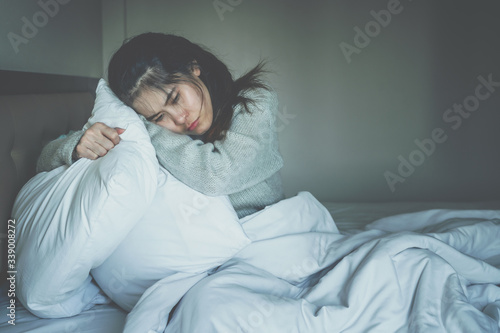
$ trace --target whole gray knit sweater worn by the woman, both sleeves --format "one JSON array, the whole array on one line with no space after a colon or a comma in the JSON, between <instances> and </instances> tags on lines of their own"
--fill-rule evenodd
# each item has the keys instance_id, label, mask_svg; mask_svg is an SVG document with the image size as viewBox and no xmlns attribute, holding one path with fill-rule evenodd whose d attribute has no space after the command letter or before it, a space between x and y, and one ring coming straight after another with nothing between
<instances>
[{"instance_id":1,"label":"whole gray knit sweater worn by the woman, both sleeves","mask_svg":"<svg viewBox=\"0 0 500 333\"><path fill-rule=\"evenodd\" d=\"M228 195L238 216L244 217L284 198L279 170L274 92L256 89L246 95L255 100L250 113L237 106L223 140L203 143L145 121L160 164L177 179L206 195ZM72 153L83 131L47 144L37 171L73 163Z\"/></svg>"}]
</instances>

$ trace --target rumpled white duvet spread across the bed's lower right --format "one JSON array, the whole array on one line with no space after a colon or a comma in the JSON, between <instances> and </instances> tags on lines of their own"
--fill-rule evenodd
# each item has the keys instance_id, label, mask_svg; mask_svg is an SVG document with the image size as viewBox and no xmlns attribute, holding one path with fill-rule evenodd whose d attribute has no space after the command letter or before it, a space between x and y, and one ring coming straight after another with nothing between
<instances>
[{"instance_id":1,"label":"rumpled white duvet spread across the bed's lower right","mask_svg":"<svg viewBox=\"0 0 500 333\"><path fill-rule=\"evenodd\" d=\"M342 235L301 193L243 220L252 243L216 270L147 289L125 332L499 332L499 218L433 210Z\"/></svg>"}]
</instances>

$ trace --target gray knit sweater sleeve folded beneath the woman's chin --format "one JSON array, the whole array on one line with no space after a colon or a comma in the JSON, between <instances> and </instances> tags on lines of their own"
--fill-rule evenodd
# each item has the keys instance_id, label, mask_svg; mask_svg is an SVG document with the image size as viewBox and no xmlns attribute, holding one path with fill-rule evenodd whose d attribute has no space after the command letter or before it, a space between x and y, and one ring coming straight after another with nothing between
<instances>
[{"instance_id":1,"label":"gray knit sweater sleeve folded beneath the woman's chin","mask_svg":"<svg viewBox=\"0 0 500 333\"><path fill-rule=\"evenodd\" d=\"M255 103L238 106L223 140L203 143L145 121L160 164L206 195L228 195L252 187L279 171L283 160L275 130L276 94L249 93Z\"/></svg>"}]
</instances>

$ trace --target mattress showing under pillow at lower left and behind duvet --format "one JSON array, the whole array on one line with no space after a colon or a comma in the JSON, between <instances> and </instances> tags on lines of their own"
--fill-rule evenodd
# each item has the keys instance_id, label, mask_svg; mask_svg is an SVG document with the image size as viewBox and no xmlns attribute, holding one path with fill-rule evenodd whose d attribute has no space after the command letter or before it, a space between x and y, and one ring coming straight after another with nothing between
<instances>
[{"instance_id":1,"label":"mattress showing under pillow at lower left and behind duvet","mask_svg":"<svg viewBox=\"0 0 500 333\"><path fill-rule=\"evenodd\" d=\"M352 203L322 202L343 233L353 233L382 217L428 209L493 209L500 210L500 201L489 202L383 202ZM127 313L116 304L96 305L78 316L61 319L41 319L16 302L15 325L9 320L7 285L0 288L0 331L6 332L122 332Z\"/></svg>"}]
</instances>

